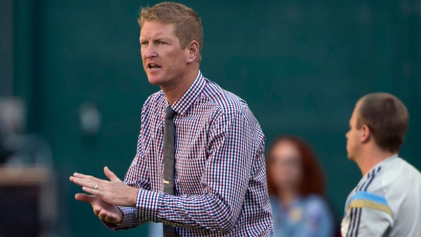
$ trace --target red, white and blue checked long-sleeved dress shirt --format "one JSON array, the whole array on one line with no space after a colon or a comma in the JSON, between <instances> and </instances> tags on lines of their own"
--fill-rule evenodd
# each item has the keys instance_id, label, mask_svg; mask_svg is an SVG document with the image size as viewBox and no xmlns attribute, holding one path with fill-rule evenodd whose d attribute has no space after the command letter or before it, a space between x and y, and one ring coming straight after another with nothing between
<instances>
[{"instance_id":1,"label":"red, white and blue checked long-sleeved dress shirt","mask_svg":"<svg viewBox=\"0 0 421 237\"><path fill-rule=\"evenodd\" d=\"M172 105L175 196L162 193L162 137L168 102L162 91L142 109L137 153L125 182L141 188L123 222L176 226L180 236L274 236L264 159L265 137L245 101L199 72Z\"/></svg>"}]
</instances>

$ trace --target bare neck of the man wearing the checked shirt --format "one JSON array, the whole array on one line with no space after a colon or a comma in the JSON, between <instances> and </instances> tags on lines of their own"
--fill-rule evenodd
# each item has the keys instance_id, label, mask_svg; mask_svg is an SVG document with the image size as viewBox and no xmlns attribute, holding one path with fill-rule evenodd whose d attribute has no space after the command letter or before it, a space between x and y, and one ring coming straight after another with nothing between
<instances>
[{"instance_id":1,"label":"bare neck of the man wearing the checked shirt","mask_svg":"<svg viewBox=\"0 0 421 237\"><path fill-rule=\"evenodd\" d=\"M179 80L175 85L161 86L168 103L173 105L183 94L192 86L196 80L196 76L199 73L199 68L191 70L190 73L186 74L183 79Z\"/></svg>"}]
</instances>

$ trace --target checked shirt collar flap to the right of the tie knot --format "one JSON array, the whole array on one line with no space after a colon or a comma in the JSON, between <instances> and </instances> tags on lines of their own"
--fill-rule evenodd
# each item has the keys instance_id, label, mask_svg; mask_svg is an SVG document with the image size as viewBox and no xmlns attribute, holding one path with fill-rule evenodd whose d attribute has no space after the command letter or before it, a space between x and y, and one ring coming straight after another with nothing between
<instances>
[{"instance_id":1,"label":"checked shirt collar flap to the right of the tie knot","mask_svg":"<svg viewBox=\"0 0 421 237\"><path fill-rule=\"evenodd\" d=\"M199 73L190 88L171 107L178 115L184 115L197 98L199 98L204 86L205 80L199 70Z\"/></svg>"}]
</instances>

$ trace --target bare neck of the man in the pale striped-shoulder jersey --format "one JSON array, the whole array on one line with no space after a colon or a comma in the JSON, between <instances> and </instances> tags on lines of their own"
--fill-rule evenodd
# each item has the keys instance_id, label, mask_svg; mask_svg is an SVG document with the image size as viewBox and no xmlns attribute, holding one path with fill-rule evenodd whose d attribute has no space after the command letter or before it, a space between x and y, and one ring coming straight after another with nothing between
<instances>
[{"instance_id":1,"label":"bare neck of the man in the pale striped-shoulder jersey","mask_svg":"<svg viewBox=\"0 0 421 237\"><path fill-rule=\"evenodd\" d=\"M359 159L356 160L356 163L360 168L362 175L364 176L378 163L394 154L395 153L384 151L376 147L363 152L363 155L361 155Z\"/></svg>"}]
</instances>

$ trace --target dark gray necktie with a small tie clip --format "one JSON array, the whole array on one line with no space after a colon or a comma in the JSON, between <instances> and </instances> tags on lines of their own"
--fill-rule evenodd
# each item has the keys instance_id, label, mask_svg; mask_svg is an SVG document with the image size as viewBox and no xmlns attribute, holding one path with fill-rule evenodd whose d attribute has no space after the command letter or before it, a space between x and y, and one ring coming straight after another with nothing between
<instances>
[{"instance_id":1,"label":"dark gray necktie with a small tie clip","mask_svg":"<svg viewBox=\"0 0 421 237\"><path fill-rule=\"evenodd\" d=\"M176 112L167 107L165 124L163 126L163 192L174 195L174 116ZM163 237L176 236L175 228L171 225L163 225Z\"/></svg>"}]
</instances>

